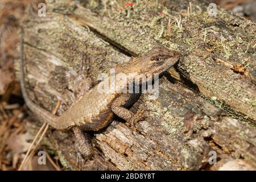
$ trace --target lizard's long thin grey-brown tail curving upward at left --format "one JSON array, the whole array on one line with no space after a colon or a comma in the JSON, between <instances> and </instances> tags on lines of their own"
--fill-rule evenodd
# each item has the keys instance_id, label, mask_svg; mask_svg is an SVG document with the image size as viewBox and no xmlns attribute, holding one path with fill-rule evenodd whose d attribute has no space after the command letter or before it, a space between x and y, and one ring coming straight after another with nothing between
<instances>
[{"instance_id":1,"label":"lizard's long thin grey-brown tail curving upward at left","mask_svg":"<svg viewBox=\"0 0 256 182\"><path fill-rule=\"evenodd\" d=\"M23 28L20 28L20 87L22 90L22 95L24 101L26 102L27 107L33 111L43 122L49 123L49 125L56 128L57 125L56 121L57 118L51 112L44 110L42 107L36 105L33 101L30 100L25 88L25 80L24 80L24 60L23 60Z\"/></svg>"}]
</instances>

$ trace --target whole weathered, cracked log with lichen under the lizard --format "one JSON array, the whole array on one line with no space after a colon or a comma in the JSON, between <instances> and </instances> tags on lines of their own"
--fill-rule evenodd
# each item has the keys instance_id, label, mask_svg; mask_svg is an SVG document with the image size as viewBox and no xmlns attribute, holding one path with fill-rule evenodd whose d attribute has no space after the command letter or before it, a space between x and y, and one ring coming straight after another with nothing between
<instances>
[{"instance_id":1,"label":"whole weathered, cracked log with lichen under the lizard","mask_svg":"<svg viewBox=\"0 0 256 182\"><path fill-rule=\"evenodd\" d=\"M155 39L160 31L159 24L156 19L151 24L148 14L159 18L156 12L162 11L160 4L158 10L152 6L144 10L144 13L142 6L138 5L134 7L136 9L131 12L130 18L114 10L103 12L104 7L101 5L95 5L94 8L89 3L84 5L86 7L68 5L67 1L47 1L46 17L38 18L36 13L31 12L23 22L27 90L37 104L52 110L56 101L62 100L58 114L63 113L78 94L86 92L86 89L96 84L98 74L129 60L129 56L115 48L115 44L125 48L126 53L138 54L160 42L184 52L176 68L183 74L180 75L181 78L189 78L205 96L215 96L230 105L229 109L240 111L254 119L255 107L253 103L249 105L247 99L252 101L255 98L255 63L252 60L255 53L247 51L240 56L243 59L248 57L246 75L234 73L229 66L243 60L238 59L236 53L239 50L230 50L232 55L224 60L221 48L218 47L220 44L213 36L214 32L208 32L207 35L211 39L216 38L216 42L209 40L204 43L201 37L195 36L194 31L198 27L188 27L189 23L202 27L202 24L208 20L213 22L214 19L207 20L204 13L198 15L196 11L193 19L187 16L183 18L183 32L178 32L177 27L172 25L170 36L163 35ZM170 3L167 7L175 10L172 5L175 4ZM177 15L175 11L172 13ZM234 16L225 11L221 13L222 16L228 16L227 19L234 19ZM202 17L203 22L199 21ZM162 17L162 20L166 24L168 18ZM218 22L223 21L228 20L218 19ZM237 21L240 21L240 25L248 24L249 30L255 27L255 24L243 19ZM134 27L136 24L141 26L144 34L139 33L141 30L138 27ZM102 40L83 25L93 27L109 38L112 44ZM214 24L215 28L213 23L211 26L216 31L218 24ZM241 29L237 28L242 32ZM197 34L202 30L197 31ZM184 38L184 34L189 38ZM229 30L223 36L228 38L227 35L232 36L231 34ZM242 34L239 36L242 38L239 47L242 48L244 41L249 39L243 39L245 35ZM213 42L215 44L210 46L212 52L205 51ZM200 56L204 53L207 56ZM209 57L214 57L214 60ZM81 63L85 65L84 71L80 71ZM177 78L178 75L172 76ZM230 168L230 164L239 169L256 168L255 127L228 116L229 113L200 97L196 89L188 88L177 81L180 79L172 76L166 73L160 79L157 100L150 100L145 94L131 108L134 113L138 109L147 112L148 117L137 123L137 131L131 130L120 121L113 121L106 129L92 133L95 136L95 155L86 164L86 169L226 169ZM77 85L79 79L76 78L80 77L85 79L81 85ZM81 91L83 87L85 90ZM230 91L224 95L226 88ZM242 102L242 98L246 102ZM243 110L246 106L248 110ZM34 127L33 123L30 125L30 128ZM60 155L61 162L75 169L76 154L72 134L51 130L48 132L48 140ZM209 151L217 152L216 165L209 165Z\"/></svg>"}]
</instances>

